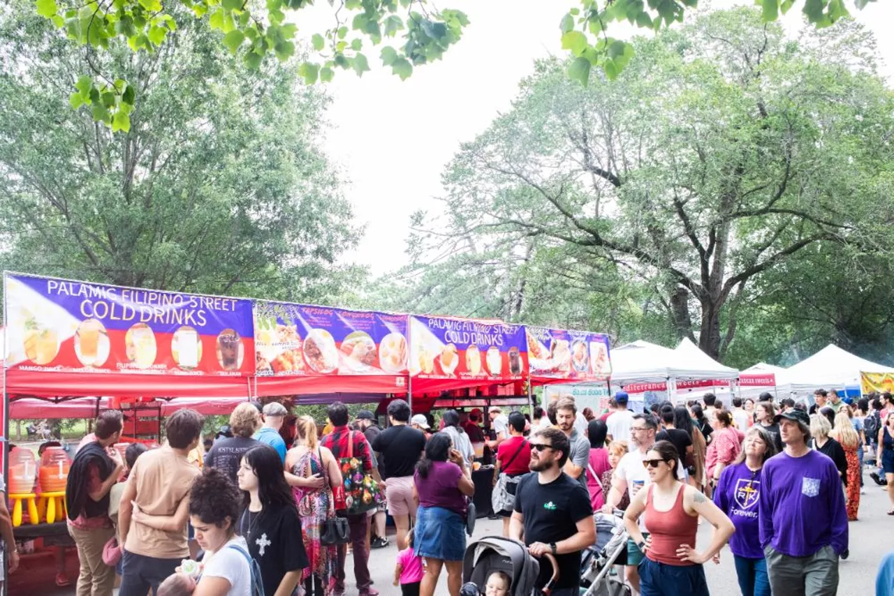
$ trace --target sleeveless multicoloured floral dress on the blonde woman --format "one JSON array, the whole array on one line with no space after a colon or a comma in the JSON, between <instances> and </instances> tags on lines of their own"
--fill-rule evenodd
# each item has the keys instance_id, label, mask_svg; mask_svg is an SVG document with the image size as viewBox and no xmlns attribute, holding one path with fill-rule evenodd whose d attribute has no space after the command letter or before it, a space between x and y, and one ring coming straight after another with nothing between
<instances>
[{"instance_id":1,"label":"sleeveless multicoloured floral dress on the blonde woman","mask_svg":"<svg viewBox=\"0 0 894 596\"><path fill-rule=\"evenodd\" d=\"M309 468L309 473L308 473ZM322 489L295 488L295 500L298 502L298 515L301 518L301 533L304 538L304 549L308 551L308 567L301 574L303 583L312 575L322 581L326 594L332 592L335 585L335 571L338 567L338 547L320 544L325 520L335 515L332 486L329 474L321 461L319 450L306 451L299 457L298 463L292 466L291 473L307 477L322 473L326 483Z\"/></svg>"}]
</instances>

